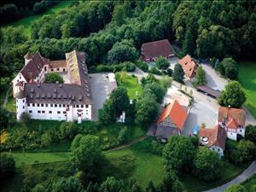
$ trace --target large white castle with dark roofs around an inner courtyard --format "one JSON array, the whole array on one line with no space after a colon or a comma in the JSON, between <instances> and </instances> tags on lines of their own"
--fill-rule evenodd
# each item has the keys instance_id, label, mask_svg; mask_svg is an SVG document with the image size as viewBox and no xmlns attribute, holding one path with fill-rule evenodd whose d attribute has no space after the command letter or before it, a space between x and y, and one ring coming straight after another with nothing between
<instances>
[{"instance_id":1,"label":"large white castle with dark roofs around an inner courtyard","mask_svg":"<svg viewBox=\"0 0 256 192\"><path fill-rule=\"evenodd\" d=\"M85 55L73 50L66 60L49 61L36 52L27 53L25 66L13 79L16 114L29 113L32 119L91 119L92 98ZM64 84L44 83L47 73L60 73Z\"/></svg>"}]
</instances>

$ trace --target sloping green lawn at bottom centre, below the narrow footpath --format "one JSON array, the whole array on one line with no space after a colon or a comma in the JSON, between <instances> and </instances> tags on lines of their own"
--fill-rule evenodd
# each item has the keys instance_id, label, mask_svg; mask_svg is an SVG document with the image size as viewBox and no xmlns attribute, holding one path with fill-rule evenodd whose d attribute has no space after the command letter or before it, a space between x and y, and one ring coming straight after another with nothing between
<instances>
[{"instance_id":1,"label":"sloping green lawn at bottom centre, below the narrow footpath","mask_svg":"<svg viewBox=\"0 0 256 192\"><path fill-rule=\"evenodd\" d=\"M160 184L166 175L163 159L139 150L143 143L147 143L147 140L130 148L108 152L106 156L110 166L106 167L103 174L125 180L136 178L137 183L143 188L146 188L150 181L153 181L154 185Z\"/></svg>"}]
</instances>

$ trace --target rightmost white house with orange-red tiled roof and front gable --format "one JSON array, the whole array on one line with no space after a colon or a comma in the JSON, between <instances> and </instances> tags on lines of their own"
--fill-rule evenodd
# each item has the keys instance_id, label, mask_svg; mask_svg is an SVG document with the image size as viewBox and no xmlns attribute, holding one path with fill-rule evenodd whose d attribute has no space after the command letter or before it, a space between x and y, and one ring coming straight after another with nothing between
<instances>
[{"instance_id":1,"label":"rightmost white house with orange-red tiled roof and front gable","mask_svg":"<svg viewBox=\"0 0 256 192\"><path fill-rule=\"evenodd\" d=\"M218 108L218 124L225 129L227 137L237 140L245 135L246 112L240 108Z\"/></svg>"}]
</instances>

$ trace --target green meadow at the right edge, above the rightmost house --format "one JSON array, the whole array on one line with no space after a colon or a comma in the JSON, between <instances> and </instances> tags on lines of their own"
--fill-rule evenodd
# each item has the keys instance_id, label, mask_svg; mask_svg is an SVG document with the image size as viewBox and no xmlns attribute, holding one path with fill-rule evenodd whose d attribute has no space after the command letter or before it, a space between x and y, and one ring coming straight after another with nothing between
<instances>
[{"instance_id":1,"label":"green meadow at the right edge, above the rightmost house","mask_svg":"<svg viewBox=\"0 0 256 192\"><path fill-rule=\"evenodd\" d=\"M247 96L245 106L256 119L256 62L240 61L239 81Z\"/></svg>"}]
</instances>

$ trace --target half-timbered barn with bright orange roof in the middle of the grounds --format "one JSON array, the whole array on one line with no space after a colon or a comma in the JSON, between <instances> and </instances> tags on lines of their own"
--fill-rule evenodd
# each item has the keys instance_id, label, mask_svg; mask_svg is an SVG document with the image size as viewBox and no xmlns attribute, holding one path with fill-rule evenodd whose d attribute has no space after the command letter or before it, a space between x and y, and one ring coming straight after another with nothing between
<instances>
[{"instance_id":1,"label":"half-timbered barn with bright orange roof in the middle of the grounds","mask_svg":"<svg viewBox=\"0 0 256 192\"><path fill-rule=\"evenodd\" d=\"M188 116L189 108L181 106L177 100L167 105L157 120L155 136L167 140L173 134L180 134Z\"/></svg>"}]
</instances>

